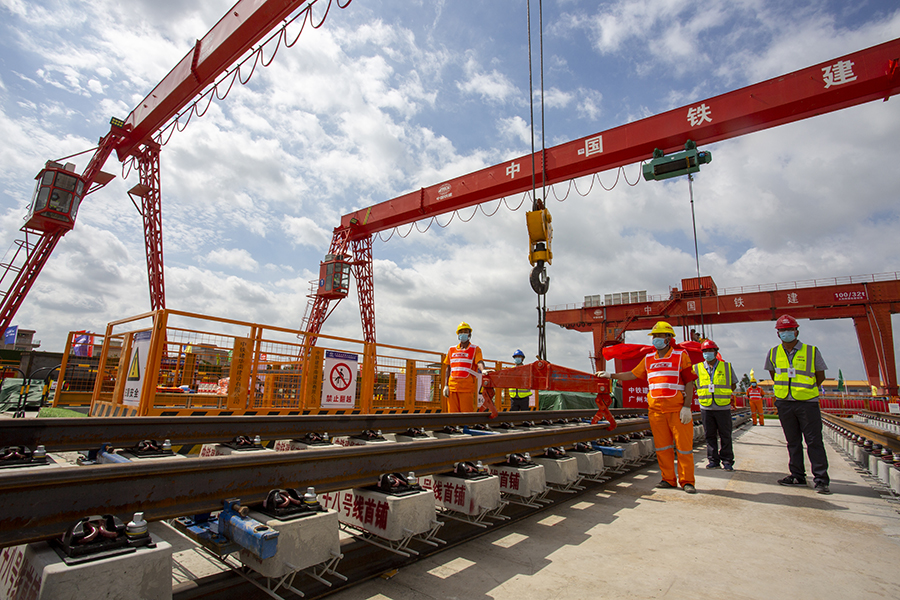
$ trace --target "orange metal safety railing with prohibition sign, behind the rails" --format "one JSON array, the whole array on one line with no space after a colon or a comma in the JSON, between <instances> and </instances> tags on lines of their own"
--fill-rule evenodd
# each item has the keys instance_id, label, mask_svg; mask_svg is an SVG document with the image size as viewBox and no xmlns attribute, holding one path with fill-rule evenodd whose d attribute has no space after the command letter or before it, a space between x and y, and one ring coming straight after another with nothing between
<instances>
[{"instance_id":1,"label":"orange metal safety railing with prohibition sign, behind the rails","mask_svg":"<svg viewBox=\"0 0 900 600\"><path fill-rule=\"evenodd\" d=\"M439 352L324 334L313 346L307 332L176 310L115 321L98 337L94 416L432 412L444 402Z\"/></svg>"}]
</instances>

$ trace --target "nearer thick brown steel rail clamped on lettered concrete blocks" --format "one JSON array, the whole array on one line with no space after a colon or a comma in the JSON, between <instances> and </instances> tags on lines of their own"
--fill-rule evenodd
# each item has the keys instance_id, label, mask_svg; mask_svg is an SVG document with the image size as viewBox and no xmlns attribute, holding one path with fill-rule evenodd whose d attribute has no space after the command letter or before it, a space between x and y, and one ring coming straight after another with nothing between
<instances>
[{"instance_id":1,"label":"nearer thick brown steel rail clamped on lettered concrete blocks","mask_svg":"<svg viewBox=\"0 0 900 600\"><path fill-rule=\"evenodd\" d=\"M578 425L339 449L7 470L0 473L0 548L62 535L87 515L130 518L144 512L147 520L156 521L219 510L227 498L259 503L276 488L315 486L325 492L372 485L382 473L439 473L455 461L493 462L511 452L647 428L646 419L635 419L614 432L602 425Z\"/></svg>"}]
</instances>

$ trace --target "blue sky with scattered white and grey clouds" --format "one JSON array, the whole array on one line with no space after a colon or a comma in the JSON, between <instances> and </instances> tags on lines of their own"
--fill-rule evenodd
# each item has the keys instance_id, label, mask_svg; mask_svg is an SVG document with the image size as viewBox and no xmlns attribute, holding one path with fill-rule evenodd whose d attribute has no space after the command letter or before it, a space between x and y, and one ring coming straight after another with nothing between
<instances>
[{"instance_id":1,"label":"blue sky with scattered white and grey clouds","mask_svg":"<svg viewBox=\"0 0 900 600\"><path fill-rule=\"evenodd\" d=\"M44 162L93 148L233 4L0 0L0 252ZM175 132L160 158L167 307L297 328L341 215L528 154L532 112L537 148L550 147L900 37L892 0L548 0L542 107L539 3L531 84L526 6L354 0ZM705 146L701 274L721 289L900 271L897 139L892 99ZM70 160L81 172L90 156ZM116 179L86 198L13 321L42 350L150 308L126 194L137 175L123 178L115 156L104 170ZM548 306L662 295L696 275L686 178L639 173L601 173L610 191L554 187ZM535 355L529 207L510 197L376 236L377 340L444 352L464 320L486 358ZM355 282L322 332L362 338ZM777 343L770 322L707 333L739 375L761 372ZM829 377L865 378L852 322L801 321L800 338ZM551 362L589 371L592 351L590 334L548 324Z\"/></svg>"}]
</instances>

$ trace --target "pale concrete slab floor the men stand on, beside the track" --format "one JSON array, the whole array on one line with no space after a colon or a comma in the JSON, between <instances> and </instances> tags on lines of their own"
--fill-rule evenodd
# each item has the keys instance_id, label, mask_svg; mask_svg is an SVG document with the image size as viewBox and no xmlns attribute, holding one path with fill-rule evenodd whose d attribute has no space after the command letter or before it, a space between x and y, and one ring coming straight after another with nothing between
<instances>
[{"instance_id":1,"label":"pale concrete slab floor the men stand on, beside the track","mask_svg":"<svg viewBox=\"0 0 900 600\"><path fill-rule=\"evenodd\" d=\"M777 421L735 432L736 471L696 495L660 490L654 463L335 600L900 597L900 514L826 442L830 496L784 487ZM808 469L808 465L807 465Z\"/></svg>"}]
</instances>

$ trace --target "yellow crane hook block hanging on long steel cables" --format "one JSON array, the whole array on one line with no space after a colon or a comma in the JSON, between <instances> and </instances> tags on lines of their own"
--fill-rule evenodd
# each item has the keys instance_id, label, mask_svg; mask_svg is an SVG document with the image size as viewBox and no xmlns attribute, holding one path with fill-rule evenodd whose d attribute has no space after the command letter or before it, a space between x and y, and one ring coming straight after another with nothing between
<instances>
[{"instance_id":1,"label":"yellow crane hook block hanging on long steel cables","mask_svg":"<svg viewBox=\"0 0 900 600\"><path fill-rule=\"evenodd\" d=\"M528 262L532 265L529 282L531 289L538 295L538 360L547 360L547 291L550 289L550 276L547 265L552 263L553 253L550 242L553 238L553 227L550 224L550 211L544 206L547 184L546 143L544 137L544 11L543 0L538 0L538 40L541 70L541 194L537 194L537 181L534 150L534 83L531 63L531 0L526 2L528 12L528 105L531 114L531 211L525 213L525 224L528 228L529 252Z\"/></svg>"}]
</instances>

